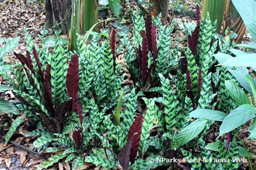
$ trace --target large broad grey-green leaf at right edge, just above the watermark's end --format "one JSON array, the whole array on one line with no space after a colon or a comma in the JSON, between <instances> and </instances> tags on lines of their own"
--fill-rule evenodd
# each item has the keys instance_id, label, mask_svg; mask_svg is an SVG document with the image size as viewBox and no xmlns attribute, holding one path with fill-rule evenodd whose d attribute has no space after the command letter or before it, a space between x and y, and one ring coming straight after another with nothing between
<instances>
[{"instance_id":1,"label":"large broad grey-green leaf at right edge, just above the watermark's end","mask_svg":"<svg viewBox=\"0 0 256 170\"><path fill-rule=\"evenodd\" d=\"M232 110L221 124L219 136L243 125L248 120L255 117L255 112L256 109L250 104L241 105L238 108Z\"/></svg>"}]
</instances>

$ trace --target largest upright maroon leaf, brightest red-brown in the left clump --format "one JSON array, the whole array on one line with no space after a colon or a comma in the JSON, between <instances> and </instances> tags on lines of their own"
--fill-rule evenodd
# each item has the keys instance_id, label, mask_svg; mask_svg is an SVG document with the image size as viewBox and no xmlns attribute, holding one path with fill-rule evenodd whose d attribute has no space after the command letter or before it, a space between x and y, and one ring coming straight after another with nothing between
<instances>
[{"instance_id":1,"label":"largest upright maroon leaf, brightest red-brown in the left clump","mask_svg":"<svg viewBox=\"0 0 256 170\"><path fill-rule=\"evenodd\" d=\"M69 97L73 99L72 113L75 111L78 100L78 87L79 87L79 63L78 56L73 55L67 73L67 88Z\"/></svg>"}]
</instances>

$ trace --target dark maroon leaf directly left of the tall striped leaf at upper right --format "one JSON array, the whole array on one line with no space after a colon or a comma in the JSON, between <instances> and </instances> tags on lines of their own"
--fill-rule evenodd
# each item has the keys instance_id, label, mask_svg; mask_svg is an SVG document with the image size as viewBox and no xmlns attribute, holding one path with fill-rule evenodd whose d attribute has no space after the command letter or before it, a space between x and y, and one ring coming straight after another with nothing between
<instances>
[{"instance_id":1,"label":"dark maroon leaf directly left of the tall striped leaf at upper right","mask_svg":"<svg viewBox=\"0 0 256 170\"><path fill-rule=\"evenodd\" d=\"M192 36L190 36L190 35L187 36L188 46L194 56L197 54L199 32L200 32L200 26L197 26L195 28L195 30L193 31Z\"/></svg>"}]
</instances>

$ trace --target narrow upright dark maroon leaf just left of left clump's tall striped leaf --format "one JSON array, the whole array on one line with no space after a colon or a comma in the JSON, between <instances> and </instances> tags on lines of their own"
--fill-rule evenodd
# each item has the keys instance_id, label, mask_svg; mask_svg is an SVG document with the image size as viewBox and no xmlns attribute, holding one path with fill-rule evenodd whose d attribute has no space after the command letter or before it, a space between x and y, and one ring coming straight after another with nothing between
<instances>
[{"instance_id":1,"label":"narrow upright dark maroon leaf just left of left clump's tall striped leaf","mask_svg":"<svg viewBox=\"0 0 256 170\"><path fill-rule=\"evenodd\" d=\"M53 109L53 103L52 103L52 88L51 88L51 65L47 65L46 72L45 72L45 79L44 79L44 92L45 92L45 98L46 103L48 104L48 110L51 112L52 117L54 116L54 109Z\"/></svg>"}]
</instances>

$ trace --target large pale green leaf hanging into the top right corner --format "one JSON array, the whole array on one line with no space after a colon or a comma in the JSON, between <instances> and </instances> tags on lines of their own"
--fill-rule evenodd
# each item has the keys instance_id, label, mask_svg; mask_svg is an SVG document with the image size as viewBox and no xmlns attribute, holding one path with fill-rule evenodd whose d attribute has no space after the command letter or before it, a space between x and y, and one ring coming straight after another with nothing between
<instances>
[{"instance_id":1,"label":"large pale green leaf hanging into the top right corner","mask_svg":"<svg viewBox=\"0 0 256 170\"><path fill-rule=\"evenodd\" d=\"M242 17L253 41L256 42L256 2L254 0L232 0L232 3Z\"/></svg>"}]
</instances>

